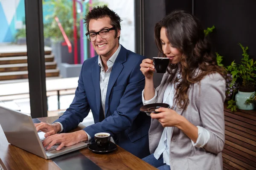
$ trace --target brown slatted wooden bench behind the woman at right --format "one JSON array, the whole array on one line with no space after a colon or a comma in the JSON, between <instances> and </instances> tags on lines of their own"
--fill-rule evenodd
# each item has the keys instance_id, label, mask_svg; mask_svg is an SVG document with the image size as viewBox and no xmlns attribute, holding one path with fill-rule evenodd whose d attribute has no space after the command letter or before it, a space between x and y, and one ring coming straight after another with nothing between
<instances>
[{"instance_id":1,"label":"brown slatted wooden bench behind the woman at right","mask_svg":"<svg viewBox=\"0 0 256 170\"><path fill-rule=\"evenodd\" d=\"M256 170L256 111L232 113L224 105L224 170Z\"/></svg>"}]
</instances>

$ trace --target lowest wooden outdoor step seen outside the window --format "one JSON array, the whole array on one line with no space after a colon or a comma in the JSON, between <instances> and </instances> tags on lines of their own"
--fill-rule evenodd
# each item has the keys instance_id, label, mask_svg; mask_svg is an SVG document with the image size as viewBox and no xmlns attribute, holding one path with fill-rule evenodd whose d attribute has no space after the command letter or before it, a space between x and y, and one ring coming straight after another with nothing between
<instances>
[{"instance_id":1,"label":"lowest wooden outdoor step seen outside the window","mask_svg":"<svg viewBox=\"0 0 256 170\"><path fill-rule=\"evenodd\" d=\"M45 70L46 77L58 77L59 69L48 69ZM1 80L11 80L11 79L27 79L28 71L10 71L10 72L1 72L0 73L0 81Z\"/></svg>"}]
</instances>

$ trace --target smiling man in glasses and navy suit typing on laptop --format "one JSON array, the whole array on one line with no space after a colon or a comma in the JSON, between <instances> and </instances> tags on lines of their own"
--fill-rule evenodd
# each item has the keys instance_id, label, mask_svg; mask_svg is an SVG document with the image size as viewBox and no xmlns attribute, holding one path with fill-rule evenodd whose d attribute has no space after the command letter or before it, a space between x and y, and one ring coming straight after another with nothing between
<instances>
[{"instance_id":1,"label":"smiling man in glasses and navy suit typing on laptop","mask_svg":"<svg viewBox=\"0 0 256 170\"><path fill-rule=\"evenodd\" d=\"M143 158L149 155L150 117L140 113L145 76L140 63L145 57L119 44L120 17L107 6L93 8L84 18L86 36L99 56L87 59L81 68L78 87L67 111L52 125L36 124L46 132L44 147L61 143L57 150L110 133L112 142ZM95 124L73 133L79 122L93 113ZM61 133L61 134L56 134ZM47 137L48 136L48 137Z\"/></svg>"}]
</instances>

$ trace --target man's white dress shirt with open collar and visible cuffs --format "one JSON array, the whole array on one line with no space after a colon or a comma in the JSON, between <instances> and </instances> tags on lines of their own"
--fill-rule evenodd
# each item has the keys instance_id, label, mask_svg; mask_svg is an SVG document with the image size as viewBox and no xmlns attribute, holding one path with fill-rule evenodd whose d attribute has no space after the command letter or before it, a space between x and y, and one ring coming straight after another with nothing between
<instances>
[{"instance_id":1,"label":"man's white dress shirt with open collar and visible cuffs","mask_svg":"<svg viewBox=\"0 0 256 170\"><path fill-rule=\"evenodd\" d=\"M104 70L101 57L99 56L99 59L98 59L98 65L101 67L99 84L100 84L101 102L102 102L104 116L105 116L105 100L106 100L106 94L108 89L108 80L109 80L114 62L116 60L116 57L118 56L120 50L121 50L121 45L119 44L119 47L117 48L116 52L107 61L108 70L106 72ZM63 131L62 124L60 122L55 122L55 123L59 123L61 125L61 131L58 132L58 133L61 133ZM88 141L90 142L91 136L88 133L86 134L88 136ZM114 140L112 137L111 137L111 142L114 143Z\"/></svg>"}]
</instances>

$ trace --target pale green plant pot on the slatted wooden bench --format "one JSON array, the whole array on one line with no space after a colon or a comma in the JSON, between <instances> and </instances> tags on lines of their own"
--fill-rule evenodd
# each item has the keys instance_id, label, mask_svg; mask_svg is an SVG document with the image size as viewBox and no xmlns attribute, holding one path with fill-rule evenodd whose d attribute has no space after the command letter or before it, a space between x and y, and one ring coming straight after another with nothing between
<instances>
[{"instance_id":1,"label":"pale green plant pot on the slatted wooden bench","mask_svg":"<svg viewBox=\"0 0 256 170\"><path fill-rule=\"evenodd\" d=\"M240 88L239 88L240 89ZM241 92L238 91L236 94L236 106L237 108L241 110L254 110L255 109L255 103L245 104L245 101L250 98L250 96L254 94L253 92Z\"/></svg>"}]
</instances>

